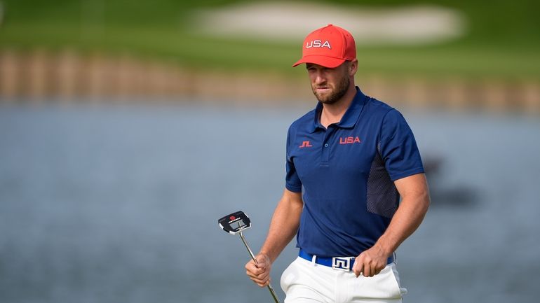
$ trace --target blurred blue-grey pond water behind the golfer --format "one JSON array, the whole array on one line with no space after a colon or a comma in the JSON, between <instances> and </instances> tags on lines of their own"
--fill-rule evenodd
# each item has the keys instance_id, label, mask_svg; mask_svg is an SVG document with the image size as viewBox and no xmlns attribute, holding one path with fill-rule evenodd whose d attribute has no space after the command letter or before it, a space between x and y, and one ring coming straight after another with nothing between
<instances>
[{"instance_id":1,"label":"blurred blue-grey pond water behind the golfer","mask_svg":"<svg viewBox=\"0 0 540 303\"><path fill-rule=\"evenodd\" d=\"M0 107L0 302L271 302L217 218L248 213L257 251L307 109ZM540 120L405 115L443 159L398 251L405 302L538 302Z\"/></svg>"}]
</instances>

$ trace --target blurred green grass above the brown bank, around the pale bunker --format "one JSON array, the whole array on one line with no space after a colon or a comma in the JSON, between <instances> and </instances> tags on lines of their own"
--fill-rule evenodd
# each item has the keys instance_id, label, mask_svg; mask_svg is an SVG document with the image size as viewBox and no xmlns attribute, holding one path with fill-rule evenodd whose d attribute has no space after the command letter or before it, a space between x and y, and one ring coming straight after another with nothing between
<instances>
[{"instance_id":1,"label":"blurred green grass above the brown bank, around the pale bunker","mask_svg":"<svg viewBox=\"0 0 540 303\"><path fill-rule=\"evenodd\" d=\"M0 48L72 48L83 53L130 53L199 69L276 71L295 75L290 64L299 43L262 43L241 38L196 36L189 27L194 8L232 0L148 2L127 0L7 0ZM356 3L357 1L339 1ZM368 0L394 6L416 1ZM409 47L359 47L360 73L383 76L461 76L540 79L540 7L529 0L446 1L468 17L467 36L451 43ZM303 73L302 73L303 74Z\"/></svg>"}]
</instances>

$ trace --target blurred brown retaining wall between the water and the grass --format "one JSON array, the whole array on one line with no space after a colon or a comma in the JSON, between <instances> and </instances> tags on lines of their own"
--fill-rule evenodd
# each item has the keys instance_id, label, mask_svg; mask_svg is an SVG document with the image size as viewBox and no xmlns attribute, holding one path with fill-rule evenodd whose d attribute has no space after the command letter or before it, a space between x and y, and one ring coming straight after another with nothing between
<instances>
[{"instance_id":1,"label":"blurred brown retaining wall between the water and the grass","mask_svg":"<svg viewBox=\"0 0 540 303\"><path fill-rule=\"evenodd\" d=\"M366 94L396 106L540 114L540 83L536 80L358 75L356 82ZM185 69L129 56L0 51L0 103L154 99L313 102L306 78Z\"/></svg>"}]
</instances>

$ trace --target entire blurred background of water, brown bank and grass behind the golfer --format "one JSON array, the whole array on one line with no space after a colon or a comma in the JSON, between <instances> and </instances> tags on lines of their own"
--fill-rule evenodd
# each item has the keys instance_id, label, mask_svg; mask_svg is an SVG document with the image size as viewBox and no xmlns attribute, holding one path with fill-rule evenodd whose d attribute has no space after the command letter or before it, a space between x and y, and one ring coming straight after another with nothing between
<instances>
[{"instance_id":1,"label":"entire blurred background of water, brown bank and grass behind the golfer","mask_svg":"<svg viewBox=\"0 0 540 303\"><path fill-rule=\"evenodd\" d=\"M432 206L400 247L405 302L536 302L535 1L0 1L0 302L271 302L257 251L303 38L356 38L356 83L405 114ZM295 258L276 261L274 288Z\"/></svg>"}]
</instances>

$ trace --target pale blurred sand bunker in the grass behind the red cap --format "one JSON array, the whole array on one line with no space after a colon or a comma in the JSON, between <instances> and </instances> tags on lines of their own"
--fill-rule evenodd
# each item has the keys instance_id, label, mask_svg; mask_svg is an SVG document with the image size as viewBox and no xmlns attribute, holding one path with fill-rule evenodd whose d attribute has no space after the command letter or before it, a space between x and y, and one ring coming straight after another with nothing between
<instances>
[{"instance_id":1,"label":"pale blurred sand bunker in the grass behind the red cap","mask_svg":"<svg viewBox=\"0 0 540 303\"><path fill-rule=\"evenodd\" d=\"M197 10L199 34L259 40L302 40L309 31L332 23L349 29L357 44L424 44L464 34L458 11L437 6L363 8L322 3L253 2Z\"/></svg>"}]
</instances>

